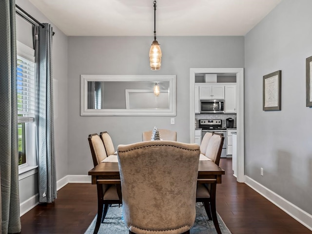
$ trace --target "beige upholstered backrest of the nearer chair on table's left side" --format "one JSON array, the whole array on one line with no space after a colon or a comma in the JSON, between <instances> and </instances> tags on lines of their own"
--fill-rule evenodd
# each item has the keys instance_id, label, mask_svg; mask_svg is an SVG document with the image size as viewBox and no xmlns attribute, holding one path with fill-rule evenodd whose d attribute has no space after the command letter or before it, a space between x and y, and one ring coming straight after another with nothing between
<instances>
[{"instance_id":1,"label":"beige upholstered backrest of the nearer chair on table's left side","mask_svg":"<svg viewBox=\"0 0 312 234\"><path fill-rule=\"evenodd\" d=\"M107 157L104 144L97 133L90 134L88 137L93 164L97 166L105 157Z\"/></svg>"}]
</instances>

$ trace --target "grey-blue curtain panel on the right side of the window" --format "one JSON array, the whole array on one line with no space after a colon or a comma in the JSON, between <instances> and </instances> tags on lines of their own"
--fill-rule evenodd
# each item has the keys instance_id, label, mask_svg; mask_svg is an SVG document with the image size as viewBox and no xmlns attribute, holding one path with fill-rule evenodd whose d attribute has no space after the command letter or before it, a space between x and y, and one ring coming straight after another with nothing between
<instances>
[{"instance_id":1,"label":"grey-blue curtain panel on the right side of the window","mask_svg":"<svg viewBox=\"0 0 312 234\"><path fill-rule=\"evenodd\" d=\"M36 80L37 103L37 156L39 202L51 203L57 198L54 126L53 126L53 76L52 76L52 32L50 24L39 26L38 71ZM36 43L35 43L36 44Z\"/></svg>"}]
</instances>

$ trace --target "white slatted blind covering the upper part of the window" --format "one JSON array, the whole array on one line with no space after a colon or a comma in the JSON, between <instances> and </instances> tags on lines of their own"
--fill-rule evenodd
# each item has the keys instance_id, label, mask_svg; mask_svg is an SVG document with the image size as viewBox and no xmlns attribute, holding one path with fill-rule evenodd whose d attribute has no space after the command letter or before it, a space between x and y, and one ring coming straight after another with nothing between
<instances>
[{"instance_id":1,"label":"white slatted blind covering the upper part of the window","mask_svg":"<svg viewBox=\"0 0 312 234\"><path fill-rule=\"evenodd\" d=\"M35 117L35 63L18 55L18 120L32 122Z\"/></svg>"}]
</instances>

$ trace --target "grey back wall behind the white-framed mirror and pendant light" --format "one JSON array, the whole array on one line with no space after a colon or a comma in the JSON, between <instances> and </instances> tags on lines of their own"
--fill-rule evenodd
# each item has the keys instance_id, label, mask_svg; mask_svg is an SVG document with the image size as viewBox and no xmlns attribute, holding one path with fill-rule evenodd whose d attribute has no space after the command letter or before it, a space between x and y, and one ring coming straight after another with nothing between
<instances>
[{"instance_id":1,"label":"grey back wall behind the white-framed mirror and pendant light","mask_svg":"<svg viewBox=\"0 0 312 234\"><path fill-rule=\"evenodd\" d=\"M87 175L93 168L87 137L108 131L118 144L141 141L143 131L158 128L177 132L190 142L190 68L243 67L244 37L157 37L162 65L151 71L153 37L68 38L68 174ZM80 74L176 75L176 124L171 117L80 117Z\"/></svg>"}]
</instances>

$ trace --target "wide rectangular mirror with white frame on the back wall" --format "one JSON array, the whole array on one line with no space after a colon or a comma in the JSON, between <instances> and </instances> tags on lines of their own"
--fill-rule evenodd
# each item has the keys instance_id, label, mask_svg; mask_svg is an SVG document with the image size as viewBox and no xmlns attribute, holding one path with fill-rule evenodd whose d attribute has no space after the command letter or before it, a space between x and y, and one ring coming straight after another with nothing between
<instances>
[{"instance_id":1,"label":"wide rectangular mirror with white frame on the back wall","mask_svg":"<svg viewBox=\"0 0 312 234\"><path fill-rule=\"evenodd\" d=\"M80 116L176 116L176 75L80 75Z\"/></svg>"}]
</instances>

